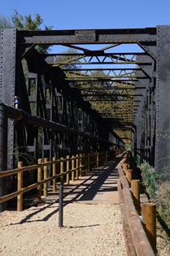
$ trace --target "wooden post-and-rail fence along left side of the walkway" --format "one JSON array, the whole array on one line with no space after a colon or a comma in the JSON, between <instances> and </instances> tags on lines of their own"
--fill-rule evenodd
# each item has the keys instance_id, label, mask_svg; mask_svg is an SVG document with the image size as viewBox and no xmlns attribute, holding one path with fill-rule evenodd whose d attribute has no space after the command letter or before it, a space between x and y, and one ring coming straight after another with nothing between
<instances>
[{"instance_id":1,"label":"wooden post-and-rail fence along left side of the walkway","mask_svg":"<svg viewBox=\"0 0 170 256\"><path fill-rule=\"evenodd\" d=\"M37 201L41 201L42 184L44 184L43 196L48 196L48 182L53 181L53 192L56 192L56 179L60 179L60 184L63 184L64 181L68 184L70 178L72 178L72 181L74 179L79 179L82 175L89 173L90 170L102 166L107 161L116 157L120 152L123 151L96 152L87 155L77 154L76 156L67 156L66 158L61 157L60 159L53 157L52 161L48 161L48 158L45 158L44 161L38 159L37 165L33 166L23 166L23 162L19 162L17 169L0 172L0 179L17 174L17 191L0 197L0 203L11 200L17 196L17 211L21 211L23 210L24 192L37 188ZM59 173L57 173L58 165ZM50 177L48 176L48 166L52 166L52 174ZM37 183L33 183L28 187L23 188L23 173L24 171L29 170L37 170Z\"/></svg>"}]
</instances>

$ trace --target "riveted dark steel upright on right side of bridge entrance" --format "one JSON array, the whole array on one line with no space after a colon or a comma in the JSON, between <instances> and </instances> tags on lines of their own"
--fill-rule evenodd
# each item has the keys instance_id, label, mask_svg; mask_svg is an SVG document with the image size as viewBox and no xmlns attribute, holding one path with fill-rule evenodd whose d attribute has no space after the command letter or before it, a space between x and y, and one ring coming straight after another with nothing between
<instances>
[{"instance_id":1,"label":"riveted dark steel upright on right side of bridge entrance","mask_svg":"<svg viewBox=\"0 0 170 256\"><path fill-rule=\"evenodd\" d=\"M170 26L157 26L155 168L170 179Z\"/></svg>"}]
</instances>

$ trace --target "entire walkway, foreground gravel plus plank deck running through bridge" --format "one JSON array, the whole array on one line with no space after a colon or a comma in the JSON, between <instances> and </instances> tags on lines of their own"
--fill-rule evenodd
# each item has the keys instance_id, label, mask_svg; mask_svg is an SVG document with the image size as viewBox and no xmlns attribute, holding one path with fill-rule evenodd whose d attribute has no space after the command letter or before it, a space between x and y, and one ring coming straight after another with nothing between
<instances>
[{"instance_id":1,"label":"entire walkway, foreground gravel plus plank deck running through bridge","mask_svg":"<svg viewBox=\"0 0 170 256\"><path fill-rule=\"evenodd\" d=\"M64 186L63 228L59 192L49 191L38 207L2 212L0 255L127 255L117 192L119 162L116 157Z\"/></svg>"}]
</instances>

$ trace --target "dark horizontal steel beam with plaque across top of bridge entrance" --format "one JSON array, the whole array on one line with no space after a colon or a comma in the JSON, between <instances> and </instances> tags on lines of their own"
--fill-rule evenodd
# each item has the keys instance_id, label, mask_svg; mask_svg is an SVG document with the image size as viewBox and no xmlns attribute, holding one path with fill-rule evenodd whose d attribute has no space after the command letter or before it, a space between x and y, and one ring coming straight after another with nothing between
<instances>
[{"instance_id":1,"label":"dark horizontal steel beam with plaque across top of bridge entrance","mask_svg":"<svg viewBox=\"0 0 170 256\"><path fill-rule=\"evenodd\" d=\"M156 44L156 29L85 29L18 31L19 44L135 43Z\"/></svg>"}]
</instances>

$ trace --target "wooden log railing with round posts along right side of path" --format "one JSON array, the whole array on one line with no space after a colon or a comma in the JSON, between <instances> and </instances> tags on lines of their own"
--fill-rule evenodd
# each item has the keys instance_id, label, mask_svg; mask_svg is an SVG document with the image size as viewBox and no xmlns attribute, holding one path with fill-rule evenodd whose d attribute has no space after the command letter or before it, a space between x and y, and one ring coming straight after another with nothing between
<instances>
[{"instance_id":1,"label":"wooden log railing with round posts along right side of path","mask_svg":"<svg viewBox=\"0 0 170 256\"><path fill-rule=\"evenodd\" d=\"M140 180L133 179L133 171L129 169L129 153L126 152L118 165L120 181L120 209L123 218L126 249L130 256L153 256L156 254L156 214L155 204L140 204ZM140 215L142 214L142 215Z\"/></svg>"}]
</instances>

